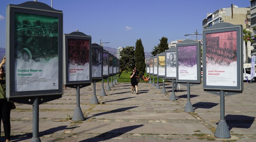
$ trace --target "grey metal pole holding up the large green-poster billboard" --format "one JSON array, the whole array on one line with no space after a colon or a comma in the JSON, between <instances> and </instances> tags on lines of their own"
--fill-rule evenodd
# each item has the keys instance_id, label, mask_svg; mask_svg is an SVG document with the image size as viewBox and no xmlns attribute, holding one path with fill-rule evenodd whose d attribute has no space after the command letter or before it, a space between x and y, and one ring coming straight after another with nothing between
<instances>
[{"instance_id":1,"label":"grey metal pole holding up the large green-poster billboard","mask_svg":"<svg viewBox=\"0 0 256 142\"><path fill-rule=\"evenodd\" d=\"M33 134L31 142L41 142L39 136L39 98L34 97L33 103Z\"/></svg>"}]
</instances>

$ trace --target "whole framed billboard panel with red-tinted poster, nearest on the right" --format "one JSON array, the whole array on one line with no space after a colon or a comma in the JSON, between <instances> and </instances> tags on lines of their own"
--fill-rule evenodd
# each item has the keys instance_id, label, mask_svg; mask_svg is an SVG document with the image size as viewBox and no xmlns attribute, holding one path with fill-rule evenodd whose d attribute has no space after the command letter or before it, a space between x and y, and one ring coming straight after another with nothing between
<instances>
[{"instance_id":1,"label":"whole framed billboard panel with red-tinted poster, nearest on the right","mask_svg":"<svg viewBox=\"0 0 256 142\"><path fill-rule=\"evenodd\" d=\"M242 26L217 26L203 30L203 88L242 91Z\"/></svg>"}]
</instances>

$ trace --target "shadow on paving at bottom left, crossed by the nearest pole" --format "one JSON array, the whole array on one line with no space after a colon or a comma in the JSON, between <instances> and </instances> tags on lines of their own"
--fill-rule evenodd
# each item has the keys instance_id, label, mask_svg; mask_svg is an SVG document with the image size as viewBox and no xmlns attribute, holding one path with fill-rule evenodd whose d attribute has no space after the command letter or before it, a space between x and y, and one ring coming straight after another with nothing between
<instances>
[{"instance_id":1,"label":"shadow on paving at bottom left, crossed by the nearest pole","mask_svg":"<svg viewBox=\"0 0 256 142\"><path fill-rule=\"evenodd\" d=\"M80 126L78 126L80 127ZM68 127L68 126L59 126L59 127L55 127L55 128L51 128L42 132L39 132L39 137L45 136L45 135L49 135L58 131L62 131L65 129L73 129L74 127ZM11 136L11 142L20 142L20 141L24 141L24 140L28 140L31 139L33 137L33 133L25 133L22 135L15 135L15 136Z\"/></svg>"}]
</instances>

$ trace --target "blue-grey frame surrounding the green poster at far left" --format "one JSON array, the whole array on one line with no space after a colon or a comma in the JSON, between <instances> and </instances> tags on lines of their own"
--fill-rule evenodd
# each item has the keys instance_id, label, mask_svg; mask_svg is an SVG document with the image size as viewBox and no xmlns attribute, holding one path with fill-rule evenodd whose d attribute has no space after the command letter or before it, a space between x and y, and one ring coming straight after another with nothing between
<instances>
[{"instance_id":1,"label":"blue-grey frame surrounding the green poster at far left","mask_svg":"<svg viewBox=\"0 0 256 142\"><path fill-rule=\"evenodd\" d=\"M55 10L42 2L38 5L28 1L19 5L9 4L6 9L6 98L16 99L19 102L21 97L34 97L44 95L61 95L63 94L63 12ZM40 6L40 9L38 8ZM37 90L37 91L15 91L15 14L25 13L28 15L49 16L58 18L58 89ZM58 97L58 98L60 98ZM44 99L42 102L53 100L52 97ZM22 101L22 99L20 99ZM30 104L30 102L26 102Z\"/></svg>"}]
</instances>

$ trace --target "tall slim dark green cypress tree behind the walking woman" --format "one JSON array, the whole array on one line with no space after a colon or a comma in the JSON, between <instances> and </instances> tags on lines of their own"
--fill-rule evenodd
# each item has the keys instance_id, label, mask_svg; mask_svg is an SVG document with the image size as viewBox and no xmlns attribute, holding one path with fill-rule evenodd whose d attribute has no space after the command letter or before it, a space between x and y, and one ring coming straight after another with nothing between
<instances>
[{"instance_id":1,"label":"tall slim dark green cypress tree behind the walking woman","mask_svg":"<svg viewBox=\"0 0 256 142\"><path fill-rule=\"evenodd\" d=\"M141 39L137 39L135 43L134 57L135 57L135 66L139 71L140 77L142 77L145 73L146 63L145 63L144 47L142 45Z\"/></svg>"}]
</instances>

